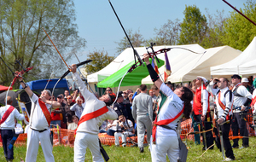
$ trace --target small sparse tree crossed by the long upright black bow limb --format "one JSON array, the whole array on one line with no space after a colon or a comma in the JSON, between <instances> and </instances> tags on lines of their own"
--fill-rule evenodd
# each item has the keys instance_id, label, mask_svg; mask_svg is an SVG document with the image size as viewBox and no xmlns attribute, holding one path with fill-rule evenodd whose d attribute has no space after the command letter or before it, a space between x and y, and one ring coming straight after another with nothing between
<instances>
[{"instance_id":1,"label":"small sparse tree crossed by the long upright black bow limb","mask_svg":"<svg viewBox=\"0 0 256 162\"><path fill-rule=\"evenodd\" d=\"M130 38L133 47L141 47L141 46L143 46L143 43L145 43L143 35L140 34L139 29L135 33L132 33L132 30L129 29L127 31L127 35ZM119 42L115 42L115 43L118 43L118 47L117 47L118 54L120 54L127 48L131 48L131 44L129 43L129 41L126 37L122 38Z\"/></svg>"}]
</instances>

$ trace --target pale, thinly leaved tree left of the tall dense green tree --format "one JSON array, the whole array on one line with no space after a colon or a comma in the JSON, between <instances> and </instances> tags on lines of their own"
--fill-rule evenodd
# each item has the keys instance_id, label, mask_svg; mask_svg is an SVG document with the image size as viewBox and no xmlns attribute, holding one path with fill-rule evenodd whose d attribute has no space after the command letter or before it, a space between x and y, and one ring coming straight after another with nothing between
<instances>
[{"instance_id":1,"label":"pale, thinly leaved tree left of the tall dense green tree","mask_svg":"<svg viewBox=\"0 0 256 162\"><path fill-rule=\"evenodd\" d=\"M154 32L157 36L148 39L146 44L149 45L151 42L154 42L157 45L175 45L177 44L180 30L180 20L168 20L160 29L154 28Z\"/></svg>"}]
</instances>

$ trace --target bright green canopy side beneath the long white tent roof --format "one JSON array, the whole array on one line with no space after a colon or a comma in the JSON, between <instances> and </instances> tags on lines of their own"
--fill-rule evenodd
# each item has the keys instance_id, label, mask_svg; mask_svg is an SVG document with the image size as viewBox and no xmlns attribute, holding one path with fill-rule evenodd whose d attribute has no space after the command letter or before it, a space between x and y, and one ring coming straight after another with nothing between
<instances>
[{"instance_id":1,"label":"bright green canopy side beneath the long white tent roof","mask_svg":"<svg viewBox=\"0 0 256 162\"><path fill-rule=\"evenodd\" d=\"M149 61L151 62L151 59L149 59ZM165 62L160 59L159 59L159 61L160 61L160 63L157 62L157 66L158 67L163 66ZM125 67L121 68L119 71L114 72L108 78L105 78L104 80L99 82L97 84L97 87L100 87L100 88L118 87L121 78L124 77L125 72L127 72L133 64L134 64L134 61L131 61ZM121 86L140 85L142 83L142 79L149 75L148 68L147 68L145 62L144 62L144 65L145 65L145 67L139 66L136 69L134 69L132 72L127 73L125 75L125 78L122 81Z\"/></svg>"}]
</instances>

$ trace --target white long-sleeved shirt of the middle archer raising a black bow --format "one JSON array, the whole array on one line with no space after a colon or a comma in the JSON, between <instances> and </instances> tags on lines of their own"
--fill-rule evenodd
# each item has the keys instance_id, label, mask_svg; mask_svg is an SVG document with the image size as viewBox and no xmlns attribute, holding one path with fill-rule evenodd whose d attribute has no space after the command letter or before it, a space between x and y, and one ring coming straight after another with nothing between
<instances>
[{"instance_id":1,"label":"white long-sleeved shirt of the middle archer raising a black bow","mask_svg":"<svg viewBox=\"0 0 256 162\"><path fill-rule=\"evenodd\" d=\"M100 101L96 98L96 96L91 93L89 90L87 90L84 82L80 78L79 74L77 72L73 73L73 80L76 82L76 84L79 86L79 90L81 91L81 94L84 96L84 100L86 101L84 111L81 116L84 116L84 114L95 112L96 110L101 109L102 107L105 107L106 104L104 101ZM108 107L108 112L103 113L102 115L85 121L84 123L79 124L78 132L87 132L90 134L98 134L99 128L102 125L103 121L106 119L117 119L118 114L114 112L114 110L110 107Z\"/></svg>"}]
</instances>

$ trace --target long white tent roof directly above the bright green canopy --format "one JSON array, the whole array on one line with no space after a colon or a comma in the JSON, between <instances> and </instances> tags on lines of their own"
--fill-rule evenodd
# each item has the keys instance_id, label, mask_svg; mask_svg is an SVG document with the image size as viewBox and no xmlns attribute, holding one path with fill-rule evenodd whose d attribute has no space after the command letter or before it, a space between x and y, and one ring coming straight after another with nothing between
<instances>
[{"instance_id":1,"label":"long white tent roof directly above the bright green canopy","mask_svg":"<svg viewBox=\"0 0 256 162\"><path fill-rule=\"evenodd\" d=\"M160 49L167 49L172 47L182 47L185 49L191 49L196 52L203 52L204 49L198 45L198 44L189 44L189 45L178 45L178 46L154 46L154 51L158 51ZM141 58L143 58L143 54L147 53L147 50L145 47L138 47L135 48L137 50L138 55L140 55ZM149 50L151 52L151 50ZM171 51L167 52L169 60L172 56L172 58L177 57L177 55L180 55L182 53L188 53L188 51L184 49L171 49ZM165 55L162 53L160 55L157 55L158 58L161 60L165 60ZM131 61L134 61L134 55L133 55L133 49L125 49L120 55L118 55L110 64L108 64L107 67L104 67L102 70L92 73L87 76L88 83L97 83L102 81L104 78L107 78L114 72L119 71L120 68L125 67L128 63Z\"/></svg>"}]
</instances>

